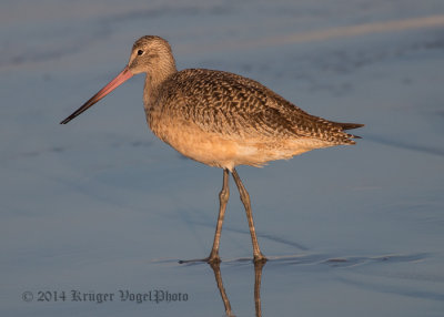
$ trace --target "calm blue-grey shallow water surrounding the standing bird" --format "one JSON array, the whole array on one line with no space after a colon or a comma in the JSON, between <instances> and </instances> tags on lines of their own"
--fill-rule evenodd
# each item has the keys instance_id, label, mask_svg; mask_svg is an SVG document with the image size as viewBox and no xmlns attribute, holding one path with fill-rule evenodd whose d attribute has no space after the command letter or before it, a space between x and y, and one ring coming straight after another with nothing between
<instances>
[{"instance_id":1,"label":"calm blue-grey shallow water surrounding the standing bird","mask_svg":"<svg viewBox=\"0 0 444 317\"><path fill-rule=\"evenodd\" d=\"M2 315L443 316L444 4L293 2L1 2ZM149 33L180 69L366 124L356 146L239 167L262 268L233 182L220 270L178 263L210 252L222 172L149 132L142 78L58 124Z\"/></svg>"}]
</instances>

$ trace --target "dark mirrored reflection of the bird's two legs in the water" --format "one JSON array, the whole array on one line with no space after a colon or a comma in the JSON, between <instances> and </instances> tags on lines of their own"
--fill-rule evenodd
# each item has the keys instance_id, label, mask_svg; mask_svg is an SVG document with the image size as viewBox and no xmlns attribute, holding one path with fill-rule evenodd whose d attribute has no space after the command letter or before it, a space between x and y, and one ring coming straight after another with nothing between
<instances>
[{"instance_id":1,"label":"dark mirrored reflection of the bird's two legs in the water","mask_svg":"<svg viewBox=\"0 0 444 317\"><path fill-rule=\"evenodd\" d=\"M266 262L254 262L254 308L256 311L256 317L262 316L261 310L261 279L262 279L262 268ZM234 317L230 299L226 296L225 288L223 287L222 274L220 263L209 263L214 272L215 283L218 284L219 292L221 293L223 305L225 306L225 315L229 317Z\"/></svg>"}]
</instances>

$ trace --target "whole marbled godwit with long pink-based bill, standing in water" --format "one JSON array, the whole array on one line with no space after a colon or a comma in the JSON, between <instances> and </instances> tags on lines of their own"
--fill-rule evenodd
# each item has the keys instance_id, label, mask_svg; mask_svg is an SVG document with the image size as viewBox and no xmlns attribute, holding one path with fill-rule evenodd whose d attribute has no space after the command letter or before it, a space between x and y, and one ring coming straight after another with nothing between
<instances>
[{"instance_id":1,"label":"whole marbled godwit with long pink-based bill, standing in water","mask_svg":"<svg viewBox=\"0 0 444 317\"><path fill-rule=\"evenodd\" d=\"M359 136L344 131L363 126L311 115L259 82L233 73L205 69L178 71L170 44L153 35L135 41L123 71L61 124L138 73L147 74L143 103L153 133L184 156L223 168L213 247L204 258L210 263L220 262L230 173L245 207L254 262L266 259L259 248L250 195L235 166L261 166L314 149L354 144L352 139Z\"/></svg>"}]
</instances>

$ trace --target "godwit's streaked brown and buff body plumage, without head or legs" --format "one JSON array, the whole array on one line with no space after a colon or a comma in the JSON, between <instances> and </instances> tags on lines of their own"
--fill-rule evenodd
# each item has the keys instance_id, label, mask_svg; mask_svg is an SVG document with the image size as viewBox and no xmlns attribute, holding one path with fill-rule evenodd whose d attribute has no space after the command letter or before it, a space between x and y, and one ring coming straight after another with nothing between
<instances>
[{"instance_id":1,"label":"godwit's streaked brown and buff body plumage, without head or legs","mask_svg":"<svg viewBox=\"0 0 444 317\"><path fill-rule=\"evenodd\" d=\"M203 69L170 75L147 113L152 131L183 155L229 170L354 144L344 127L361 126L310 115L256 81ZM201 137L212 140L218 153L209 155ZM186 139L194 143L191 152Z\"/></svg>"}]
</instances>

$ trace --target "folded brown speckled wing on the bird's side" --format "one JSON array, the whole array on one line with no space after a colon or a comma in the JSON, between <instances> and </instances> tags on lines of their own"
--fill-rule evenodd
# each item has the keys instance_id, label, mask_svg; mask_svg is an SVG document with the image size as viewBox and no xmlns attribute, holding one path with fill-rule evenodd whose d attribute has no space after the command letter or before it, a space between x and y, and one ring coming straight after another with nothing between
<instances>
[{"instance_id":1,"label":"folded brown speckled wing on the bird's side","mask_svg":"<svg viewBox=\"0 0 444 317\"><path fill-rule=\"evenodd\" d=\"M325 141L350 137L341 126L313 116L261 83L233 73L185 70L171 79L179 95L167 103L171 116L193 122L205 132L230 139L316 137ZM167 90L168 91L168 90Z\"/></svg>"}]
</instances>

